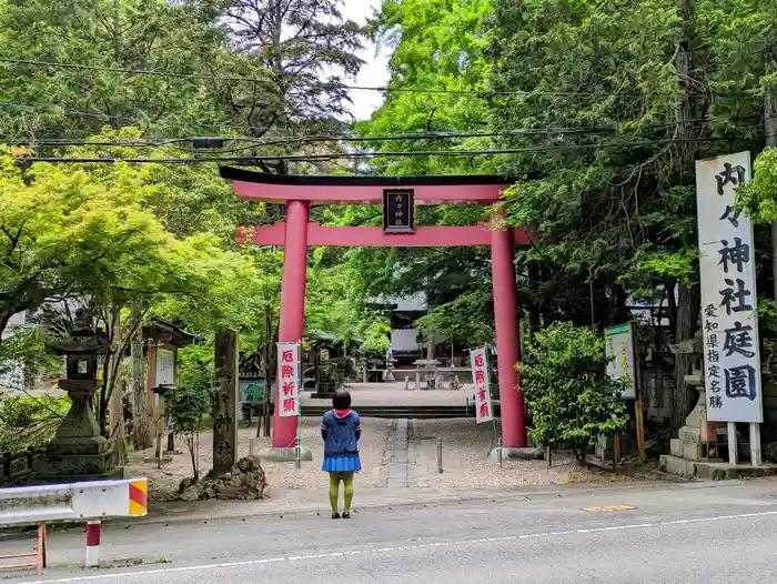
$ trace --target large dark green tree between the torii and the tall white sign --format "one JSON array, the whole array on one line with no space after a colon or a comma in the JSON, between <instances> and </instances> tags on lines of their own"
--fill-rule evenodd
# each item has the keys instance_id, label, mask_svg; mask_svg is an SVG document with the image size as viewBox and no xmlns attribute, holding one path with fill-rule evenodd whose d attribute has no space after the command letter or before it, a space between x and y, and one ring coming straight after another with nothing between
<instances>
[{"instance_id":1,"label":"large dark green tree between the torii and the tall white sign","mask_svg":"<svg viewBox=\"0 0 777 584\"><path fill-rule=\"evenodd\" d=\"M557 240L523 260L554 290L575 290L581 308L593 289L598 325L626 320L629 296L663 298L675 342L690 338L699 304L694 160L751 143L738 112L727 112L728 123L710 115L717 99L707 82L723 73L699 24L709 4L495 6L494 129L529 132L500 141L526 150L501 160L516 180L504 207L515 225ZM575 322L586 320L578 310ZM675 366L679 426L692 405L689 361L677 356Z\"/></svg>"}]
</instances>

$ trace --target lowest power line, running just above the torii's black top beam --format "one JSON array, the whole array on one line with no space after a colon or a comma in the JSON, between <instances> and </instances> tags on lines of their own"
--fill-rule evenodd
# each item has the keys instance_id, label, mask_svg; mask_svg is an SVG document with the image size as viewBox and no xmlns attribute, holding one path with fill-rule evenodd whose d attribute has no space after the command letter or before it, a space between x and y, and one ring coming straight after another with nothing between
<instances>
[{"instance_id":1,"label":"lowest power line, running just above the torii's black top beam","mask_svg":"<svg viewBox=\"0 0 777 584\"><path fill-rule=\"evenodd\" d=\"M20 157L28 162L52 163L154 163L154 164L203 164L203 163L233 163L249 164L263 161L314 162L342 159L375 159L375 158L404 158L404 157L483 157L496 154L524 154L532 152L563 152L609 148L645 148L670 143L702 143L727 142L728 138L692 138L642 140L634 142L605 142L598 144L557 144L549 147L506 148L494 150L426 150L426 151L397 151L397 152L333 152L325 154L262 154L252 157L213 157L213 158L64 158L64 157Z\"/></svg>"}]
</instances>

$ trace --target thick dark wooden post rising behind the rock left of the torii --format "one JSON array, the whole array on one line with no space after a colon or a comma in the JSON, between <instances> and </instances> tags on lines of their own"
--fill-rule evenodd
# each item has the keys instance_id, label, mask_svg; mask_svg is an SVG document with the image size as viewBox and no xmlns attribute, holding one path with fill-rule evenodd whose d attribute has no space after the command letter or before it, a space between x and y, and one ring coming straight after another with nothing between
<instances>
[{"instance_id":1,"label":"thick dark wooden post rising behind the rock left of the torii","mask_svg":"<svg viewBox=\"0 0 777 584\"><path fill-rule=\"evenodd\" d=\"M238 333L221 331L215 338L216 394L213 406L213 475L238 462Z\"/></svg>"}]
</instances>

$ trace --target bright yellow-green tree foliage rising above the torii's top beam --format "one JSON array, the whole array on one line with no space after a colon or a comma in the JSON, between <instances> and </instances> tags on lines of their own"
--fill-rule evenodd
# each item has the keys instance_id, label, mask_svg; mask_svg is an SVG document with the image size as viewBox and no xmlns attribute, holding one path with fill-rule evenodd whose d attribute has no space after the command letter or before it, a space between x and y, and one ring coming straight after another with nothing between
<instances>
[{"instance_id":1,"label":"bright yellow-green tree foliage rising above the torii's top beam","mask_svg":"<svg viewBox=\"0 0 777 584\"><path fill-rule=\"evenodd\" d=\"M397 133L415 138L379 140L372 144L375 151L477 150L490 142L477 135L446 139L438 134L487 130L490 66L484 49L492 16L491 0L383 2L371 29L376 41L392 48L391 81L383 105L357 129L374 138ZM408 89L416 92L401 91ZM485 173L490 163L418 155L379 158L372 165L385 174L412 175Z\"/></svg>"}]
</instances>

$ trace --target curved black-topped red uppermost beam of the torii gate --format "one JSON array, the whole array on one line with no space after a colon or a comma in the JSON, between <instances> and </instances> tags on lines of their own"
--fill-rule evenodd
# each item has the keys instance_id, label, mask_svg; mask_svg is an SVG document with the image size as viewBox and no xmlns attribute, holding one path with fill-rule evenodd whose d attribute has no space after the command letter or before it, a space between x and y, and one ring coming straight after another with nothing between
<instances>
[{"instance_id":1,"label":"curved black-topped red uppermost beam of the torii gate","mask_svg":"<svg viewBox=\"0 0 777 584\"><path fill-rule=\"evenodd\" d=\"M242 199L282 202L309 201L316 204L381 204L385 189L413 189L421 204L491 204L500 200L511 183L492 174L438 177L357 177L272 174L221 167L221 177L233 181Z\"/></svg>"}]
</instances>

